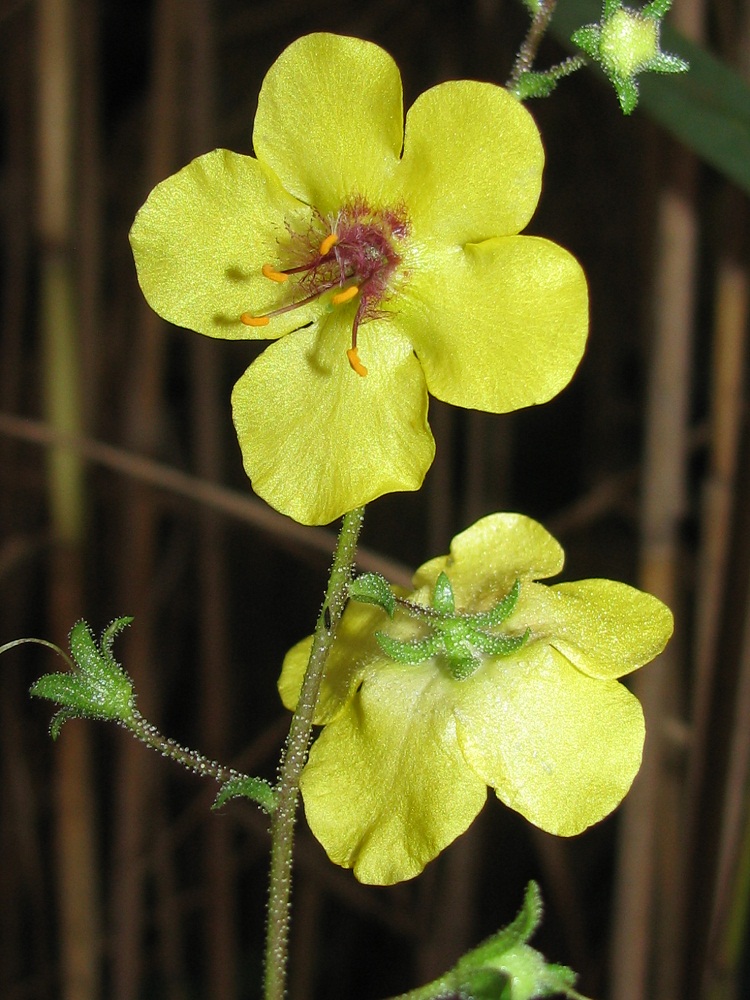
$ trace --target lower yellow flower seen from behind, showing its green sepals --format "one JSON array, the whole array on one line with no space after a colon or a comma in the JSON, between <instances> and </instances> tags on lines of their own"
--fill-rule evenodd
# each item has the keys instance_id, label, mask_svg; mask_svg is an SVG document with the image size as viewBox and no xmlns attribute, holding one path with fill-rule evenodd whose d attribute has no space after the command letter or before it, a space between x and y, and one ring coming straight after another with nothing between
<instances>
[{"instance_id":1,"label":"lower yellow flower seen from behind, showing its green sepals","mask_svg":"<svg viewBox=\"0 0 750 1000\"><path fill-rule=\"evenodd\" d=\"M493 514L417 571L392 620L349 604L302 775L308 823L332 861L363 882L412 878L467 829L488 785L561 836L622 800L644 724L617 678L661 652L672 615L611 580L535 582L562 565L536 521ZM309 649L304 640L284 660L288 708Z\"/></svg>"}]
</instances>

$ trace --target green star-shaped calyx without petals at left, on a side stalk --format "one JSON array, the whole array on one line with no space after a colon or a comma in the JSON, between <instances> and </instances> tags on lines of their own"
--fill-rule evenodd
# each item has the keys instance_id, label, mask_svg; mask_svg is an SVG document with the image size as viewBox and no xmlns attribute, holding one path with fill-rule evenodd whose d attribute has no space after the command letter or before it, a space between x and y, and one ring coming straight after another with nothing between
<instances>
[{"instance_id":1,"label":"green star-shaped calyx without petals at left, on a side stalk","mask_svg":"<svg viewBox=\"0 0 750 1000\"><path fill-rule=\"evenodd\" d=\"M30 693L48 698L61 706L53 717L50 734L57 739L68 719L89 718L122 722L130 727L135 713L133 685L112 655L112 643L132 618L116 618L102 633L97 644L85 621L77 622L70 633L73 669L67 673L44 674Z\"/></svg>"}]
</instances>

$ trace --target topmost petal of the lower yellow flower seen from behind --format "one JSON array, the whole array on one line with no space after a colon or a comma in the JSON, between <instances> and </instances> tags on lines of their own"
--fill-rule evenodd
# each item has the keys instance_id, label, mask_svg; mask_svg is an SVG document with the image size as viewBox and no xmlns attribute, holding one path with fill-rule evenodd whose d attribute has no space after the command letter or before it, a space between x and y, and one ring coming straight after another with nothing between
<instances>
[{"instance_id":1,"label":"topmost petal of the lower yellow flower seen from behind","mask_svg":"<svg viewBox=\"0 0 750 1000\"><path fill-rule=\"evenodd\" d=\"M563 560L559 543L538 521L523 514L490 514L456 535L449 556L421 566L414 587L432 590L445 571L460 611L486 611L516 580L555 576Z\"/></svg>"}]
</instances>

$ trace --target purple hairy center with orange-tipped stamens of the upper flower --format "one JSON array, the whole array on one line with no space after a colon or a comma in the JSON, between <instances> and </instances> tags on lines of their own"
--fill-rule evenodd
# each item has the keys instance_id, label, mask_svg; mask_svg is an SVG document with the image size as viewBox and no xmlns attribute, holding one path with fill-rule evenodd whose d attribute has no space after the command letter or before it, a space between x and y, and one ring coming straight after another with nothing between
<instances>
[{"instance_id":1,"label":"purple hairy center with orange-tipped stamens of the upper flower","mask_svg":"<svg viewBox=\"0 0 750 1000\"><path fill-rule=\"evenodd\" d=\"M355 198L327 221L318 215L304 236L291 234L290 244L284 248L289 266L264 264L262 268L264 277L278 285L287 286L293 279L291 301L260 316L243 313L241 321L246 326L267 326L274 316L337 289L330 298L332 306L357 301L346 356L358 375L367 375L359 359L357 333L367 320L383 315L379 305L401 263L398 243L408 232L409 222L402 209L375 210L362 198Z\"/></svg>"}]
</instances>

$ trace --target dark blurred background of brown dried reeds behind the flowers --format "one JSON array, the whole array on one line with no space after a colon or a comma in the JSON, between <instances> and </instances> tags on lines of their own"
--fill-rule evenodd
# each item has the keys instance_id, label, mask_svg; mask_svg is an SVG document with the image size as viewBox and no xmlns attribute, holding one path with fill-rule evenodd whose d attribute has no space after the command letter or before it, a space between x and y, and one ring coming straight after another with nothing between
<instances>
[{"instance_id":1,"label":"dark blurred background of brown dried reeds behind the flowers","mask_svg":"<svg viewBox=\"0 0 750 1000\"><path fill-rule=\"evenodd\" d=\"M677 5L737 65L747 4ZM299 35L378 42L408 106L445 79L502 83L526 25L510 0L0 4L0 642L64 645L79 617L98 632L134 615L117 651L146 717L274 776L286 729L275 681L312 629L334 536L292 535L260 502L229 511L226 492L201 491L250 498L229 394L258 347L154 317L128 228L151 187L192 157L252 151L262 78ZM563 55L545 42L539 65ZM646 766L628 804L573 841L491 797L423 876L388 889L334 869L303 821L295 1000L369 1000L436 976L512 918L532 877L548 903L539 946L581 974L586 995L724 998L737 987L750 757L746 202L640 112L624 119L587 72L531 110L547 168L528 231L586 270L587 354L537 409L498 417L432 401L438 457L425 487L372 504L363 544L403 577L482 514L519 510L563 543L567 578L661 596L677 635L635 679ZM62 393L80 404L72 425L45 390L63 377L53 345L66 315L79 359ZM48 462L55 426L83 449L72 508ZM191 478L171 481L170 469ZM0 663L0 995L259 996L263 817L243 803L210 813L213 785L113 727L71 722L53 746L50 707L27 691L60 661L24 646Z\"/></svg>"}]
</instances>

